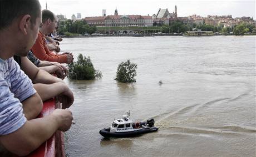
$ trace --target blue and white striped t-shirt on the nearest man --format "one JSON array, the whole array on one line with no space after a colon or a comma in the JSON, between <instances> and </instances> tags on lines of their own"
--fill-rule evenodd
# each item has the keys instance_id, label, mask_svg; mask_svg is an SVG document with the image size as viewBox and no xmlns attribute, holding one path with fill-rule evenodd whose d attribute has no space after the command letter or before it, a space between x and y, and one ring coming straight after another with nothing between
<instances>
[{"instance_id":1,"label":"blue and white striped t-shirt on the nearest man","mask_svg":"<svg viewBox=\"0 0 256 157\"><path fill-rule=\"evenodd\" d=\"M21 102L35 93L31 80L13 58L0 59L0 135L12 133L26 123Z\"/></svg>"}]
</instances>

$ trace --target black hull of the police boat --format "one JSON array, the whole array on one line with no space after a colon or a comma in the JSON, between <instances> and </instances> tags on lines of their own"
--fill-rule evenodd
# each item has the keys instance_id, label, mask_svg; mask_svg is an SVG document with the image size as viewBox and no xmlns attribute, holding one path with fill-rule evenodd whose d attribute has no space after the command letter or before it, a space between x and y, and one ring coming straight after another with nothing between
<instances>
[{"instance_id":1,"label":"black hull of the police boat","mask_svg":"<svg viewBox=\"0 0 256 157\"><path fill-rule=\"evenodd\" d=\"M129 137L132 137L132 136L137 136L137 135L140 135L140 134L150 133L150 132L154 132L154 131L157 131L157 130L158 130L158 128L153 126L151 128L134 130L134 131L123 132L123 133L110 133L110 128L107 128L107 129L100 130L100 134L104 137L129 138Z\"/></svg>"}]
</instances>

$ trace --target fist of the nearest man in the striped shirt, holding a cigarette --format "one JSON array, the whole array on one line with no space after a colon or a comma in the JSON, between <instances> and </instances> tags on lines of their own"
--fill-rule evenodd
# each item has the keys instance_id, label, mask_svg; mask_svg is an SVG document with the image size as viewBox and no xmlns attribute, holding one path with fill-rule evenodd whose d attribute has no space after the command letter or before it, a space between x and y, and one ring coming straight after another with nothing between
<instances>
[{"instance_id":1,"label":"fist of the nearest man in the striped shirt, holding a cigarette","mask_svg":"<svg viewBox=\"0 0 256 157\"><path fill-rule=\"evenodd\" d=\"M55 109L52 113L58 121L58 130L67 131L72 124L73 116L70 110Z\"/></svg>"}]
</instances>

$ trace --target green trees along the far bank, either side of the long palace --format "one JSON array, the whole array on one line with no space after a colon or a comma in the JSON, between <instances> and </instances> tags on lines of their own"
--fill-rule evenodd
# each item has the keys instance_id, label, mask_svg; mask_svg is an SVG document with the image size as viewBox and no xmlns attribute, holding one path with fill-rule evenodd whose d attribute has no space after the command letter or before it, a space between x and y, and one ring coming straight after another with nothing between
<instances>
[{"instance_id":1,"label":"green trees along the far bank, either side of the long palace","mask_svg":"<svg viewBox=\"0 0 256 157\"><path fill-rule=\"evenodd\" d=\"M213 31L214 33L218 32L222 34L229 34L230 32L233 32L235 35L256 33L255 25L246 22L242 22L234 27L224 27L223 24L220 24L219 26L212 26L205 23L185 24L182 21L176 20L171 22L170 26L163 23L154 23L153 26L161 27L161 32L163 33L185 33L186 31L193 31L193 28L201 29L201 31ZM85 20L72 22L71 19L68 19L67 21L60 21L58 24L58 33L66 36L83 35L85 33L92 34L96 31L97 28L95 26L89 26Z\"/></svg>"}]
</instances>

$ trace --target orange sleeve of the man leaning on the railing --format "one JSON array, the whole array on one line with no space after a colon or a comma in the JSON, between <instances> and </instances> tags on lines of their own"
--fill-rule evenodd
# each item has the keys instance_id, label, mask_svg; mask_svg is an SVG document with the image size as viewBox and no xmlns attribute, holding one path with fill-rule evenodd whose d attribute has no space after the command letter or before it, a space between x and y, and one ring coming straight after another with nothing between
<instances>
[{"instance_id":1,"label":"orange sleeve of the man leaning on the railing","mask_svg":"<svg viewBox=\"0 0 256 157\"><path fill-rule=\"evenodd\" d=\"M32 52L38 59L49 62L67 63L67 55L56 55L52 53L44 43L45 40L39 33L36 43L32 47Z\"/></svg>"}]
</instances>

